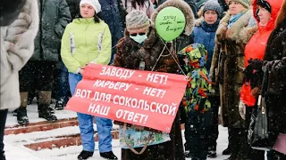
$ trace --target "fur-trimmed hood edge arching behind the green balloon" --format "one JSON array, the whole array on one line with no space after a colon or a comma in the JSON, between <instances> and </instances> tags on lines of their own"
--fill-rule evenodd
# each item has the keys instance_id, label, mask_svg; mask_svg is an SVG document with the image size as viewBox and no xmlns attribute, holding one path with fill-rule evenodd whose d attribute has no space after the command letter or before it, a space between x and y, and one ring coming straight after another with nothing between
<instances>
[{"instance_id":1,"label":"fur-trimmed hood edge arching behind the green balloon","mask_svg":"<svg viewBox=\"0 0 286 160\"><path fill-rule=\"evenodd\" d=\"M187 4L186 2L182 0L167 0L166 2L164 2L164 4L159 5L159 7L156 8L156 11L153 13L151 20L155 22L158 13L168 6L176 7L179 10L181 10L181 12L183 12L183 14L185 15L185 19L186 19L186 27L185 27L184 34L189 36L194 28L195 18L194 18L194 13L189 7L189 4Z\"/></svg>"}]
</instances>

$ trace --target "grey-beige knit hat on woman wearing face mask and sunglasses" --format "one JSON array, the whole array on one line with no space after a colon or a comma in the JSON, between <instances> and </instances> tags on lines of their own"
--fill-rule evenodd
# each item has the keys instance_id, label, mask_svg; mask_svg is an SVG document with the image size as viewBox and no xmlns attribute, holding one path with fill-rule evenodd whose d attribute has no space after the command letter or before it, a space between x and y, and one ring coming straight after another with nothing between
<instances>
[{"instance_id":1,"label":"grey-beige knit hat on woman wearing face mask and sunglasses","mask_svg":"<svg viewBox=\"0 0 286 160\"><path fill-rule=\"evenodd\" d=\"M133 10L126 15L126 28L130 30L139 30L148 28L150 26L150 20L145 12L139 10Z\"/></svg>"}]
</instances>

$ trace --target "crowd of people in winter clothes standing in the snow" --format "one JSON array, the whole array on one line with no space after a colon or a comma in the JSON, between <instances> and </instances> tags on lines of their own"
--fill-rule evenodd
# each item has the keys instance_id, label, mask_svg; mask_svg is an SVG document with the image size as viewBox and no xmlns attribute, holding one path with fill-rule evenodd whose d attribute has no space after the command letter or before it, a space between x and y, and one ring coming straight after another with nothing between
<instances>
[{"instance_id":1,"label":"crowd of people in winter clothes standing in the snow","mask_svg":"<svg viewBox=\"0 0 286 160\"><path fill-rule=\"evenodd\" d=\"M190 78L170 133L77 113L83 147L78 159L94 154L94 119L105 159L118 159L113 124L120 125L122 160L215 158L219 124L228 127L227 159L265 159L265 153L269 160L286 159L272 148L286 134L285 0L13 1L1 4L1 160L8 108L27 125L27 107L36 97L38 117L57 121L56 110L67 104L89 63ZM154 24L169 6L181 10L186 26L165 43ZM258 150L249 139L261 108L268 143ZM130 146L126 135L161 139Z\"/></svg>"}]
</instances>

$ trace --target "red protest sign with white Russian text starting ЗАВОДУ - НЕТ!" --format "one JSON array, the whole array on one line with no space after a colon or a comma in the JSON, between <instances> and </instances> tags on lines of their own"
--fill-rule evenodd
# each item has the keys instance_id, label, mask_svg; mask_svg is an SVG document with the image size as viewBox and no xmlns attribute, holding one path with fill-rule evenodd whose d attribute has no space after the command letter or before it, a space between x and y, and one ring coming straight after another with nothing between
<instances>
[{"instance_id":1,"label":"red protest sign with white Russian text starting \u0417\u0410\u0412\u041e\u0414\u0423 - \u041d\u0415\u0422!","mask_svg":"<svg viewBox=\"0 0 286 160\"><path fill-rule=\"evenodd\" d=\"M66 108L170 132L185 76L91 64Z\"/></svg>"}]
</instances>

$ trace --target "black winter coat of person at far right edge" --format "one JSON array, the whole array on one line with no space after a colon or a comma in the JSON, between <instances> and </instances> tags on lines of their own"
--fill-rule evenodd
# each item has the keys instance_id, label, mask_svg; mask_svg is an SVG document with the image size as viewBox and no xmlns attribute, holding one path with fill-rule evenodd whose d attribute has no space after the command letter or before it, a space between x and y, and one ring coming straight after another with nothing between
<instances>
[{"instance_id":1,"label":"black winter coat of person at far right edge","mask_svg":"<svg viewBox=\"0 0 286 160\"><path fill-rule=\"evenodd\" d=\"M266 81L265 104L268 109L268 127L272 135L286 133L286 1L276 20L276 27L268 38L265 50ZM283 59L283 60L282 60ZM274 140L273 140L274 141Z\"/></svg>"}]
</instances>

